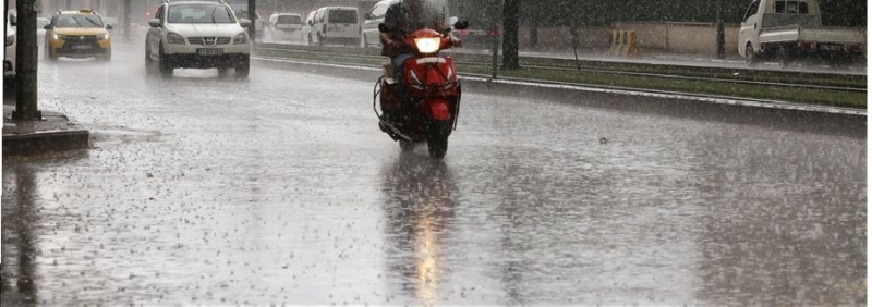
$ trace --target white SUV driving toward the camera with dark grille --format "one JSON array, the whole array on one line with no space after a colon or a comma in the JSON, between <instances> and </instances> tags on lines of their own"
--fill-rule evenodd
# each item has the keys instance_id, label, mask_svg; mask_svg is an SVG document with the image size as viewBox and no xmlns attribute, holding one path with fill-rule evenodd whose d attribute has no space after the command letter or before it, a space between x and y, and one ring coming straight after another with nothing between
<instances>
[{"instance_id":1,"label":"white SUV driving toward the camera with dark grille","mask_svg":"<svg viewBox=\"0 0 872 307\"><path fill-rule=\"evenodd\" d=\"M146 71L158 63L160 75L174 69L218 69L220 76L234 69L237 77L249 77L251 38L249 20L237 20L223 1L174 1L161 3L145 38Z\"/></svg>"}]
</instances>

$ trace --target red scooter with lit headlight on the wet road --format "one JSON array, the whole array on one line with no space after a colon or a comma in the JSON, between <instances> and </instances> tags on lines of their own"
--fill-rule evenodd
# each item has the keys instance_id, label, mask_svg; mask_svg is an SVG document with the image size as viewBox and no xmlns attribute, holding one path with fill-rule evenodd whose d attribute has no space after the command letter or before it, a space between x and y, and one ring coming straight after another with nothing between
<instances>
[{"instance_id":1,"label":"red scooter with lit headlight on the wet road","mask_svg":"<svg viewBox=\"0 0 872 307\"><path fill-rule=\"evenodd\" d=\"M457 127L460 113L460 81L455 62L451 57L440 56L439 50L451 48L449 34L452 29L467 28L469 22L457 22L452 17L451 24L444 33L422 28L408 35L402 41L412 47L415 54L403 63L403 79L392 79L390 64L387 64L373 95L373 110L382 131L399 142L403 151L426 142L434 159L445 158L448 136ZM383 33L390 30L384 23L378 28ZM396 89L399 82L403 83L404 94ZM382 114L376 110L376 100L380 102Z\"/></svg>"}]
</instances>

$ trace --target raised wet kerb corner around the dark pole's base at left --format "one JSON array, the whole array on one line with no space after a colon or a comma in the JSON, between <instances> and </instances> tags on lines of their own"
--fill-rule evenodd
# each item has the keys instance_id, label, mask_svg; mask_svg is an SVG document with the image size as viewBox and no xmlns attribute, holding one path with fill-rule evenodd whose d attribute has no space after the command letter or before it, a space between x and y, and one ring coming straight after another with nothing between
<instances>
[{"instance_id":1,"label":"raised wet kerb corner around the dark pole's base at left","mask_svg":"<svg viewBox=\"0 0 872 307\"><path fill-rule=\"evenodd\" d=\"M3 157L46 155L55 151L86 149L89 133L66 115L48 110L41 121L12 120L14 94L3 95Z\"/></svg>"}]
</instances>

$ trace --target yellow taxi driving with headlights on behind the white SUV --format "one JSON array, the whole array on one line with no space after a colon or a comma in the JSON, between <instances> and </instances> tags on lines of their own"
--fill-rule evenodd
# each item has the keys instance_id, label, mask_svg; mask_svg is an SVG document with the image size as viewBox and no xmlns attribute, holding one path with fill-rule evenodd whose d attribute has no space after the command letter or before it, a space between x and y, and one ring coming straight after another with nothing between
<instances>
[{"instance_id":1,"label":"yellow taxi driving with headlights on behind the white SUV","mask_svg":"<svg viewBox=\"0 0 872 307\"><path fill-rule=\"evenodd\" d=\"M90 9L58 11L45 26L45 57L55 61L59 57L112 59L111 25Z\"/></svg>"}]
</instances>

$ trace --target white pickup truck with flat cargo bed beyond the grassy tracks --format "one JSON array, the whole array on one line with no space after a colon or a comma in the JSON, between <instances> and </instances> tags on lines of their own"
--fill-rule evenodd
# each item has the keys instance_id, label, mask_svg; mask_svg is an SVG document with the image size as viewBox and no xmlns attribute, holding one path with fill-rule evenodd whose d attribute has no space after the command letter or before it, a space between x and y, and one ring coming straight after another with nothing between
<instances>
[{"instance_id":1,"label":"white pickup truck with flat cargo bed beyond the grassy tracks","mask_svg":"<svg viewBox=\"0 0 872 307\"><path fill-rule=\"evenodd\" d=\"M742 20L738 48L749 64L813 59L838 65L862 58L865 30L823 26L816 0L754 0Z\"/></svg>"}]
</instances>

